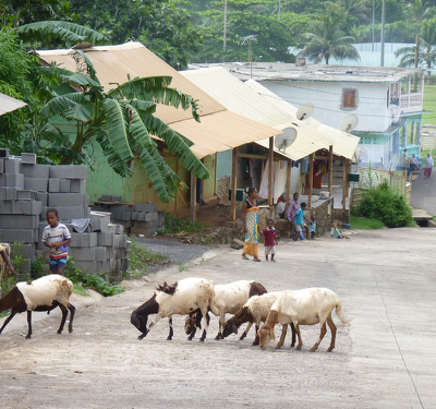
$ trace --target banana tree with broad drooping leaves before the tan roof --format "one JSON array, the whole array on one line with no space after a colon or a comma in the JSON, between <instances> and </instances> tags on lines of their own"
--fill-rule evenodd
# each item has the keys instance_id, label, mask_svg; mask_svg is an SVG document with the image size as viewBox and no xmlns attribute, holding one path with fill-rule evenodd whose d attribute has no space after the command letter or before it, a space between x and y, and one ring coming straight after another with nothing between
<instances>
[{"instance_id":1,"label":"banana tree with broad drooping leaves before the tan roof","mask_svg":"<svg viewBox=\"0 0 436 409\"><path fill-rule=\"evenodd\" d=\"M75 122L76 134L71 151L82 155L93 143L98 143L112 169L122 177L131 176L132 160L138 160L150 178L159 199L168 202L181 185L181 179L164 160L152 135L161 139L167 148L181 160L184 168L199 179L209 173L190 149L192 143L154 116L157 104L190 109L199 121L197 101L170 87L170 76L128 79L111 91L105 91L87 56L76 50L74 58L86 72L63 71L61 83L80 92L57 95L40 113L46 119L61 116ZM74 163L66 152L61 164Z\"/></svg>"}]
</instances>

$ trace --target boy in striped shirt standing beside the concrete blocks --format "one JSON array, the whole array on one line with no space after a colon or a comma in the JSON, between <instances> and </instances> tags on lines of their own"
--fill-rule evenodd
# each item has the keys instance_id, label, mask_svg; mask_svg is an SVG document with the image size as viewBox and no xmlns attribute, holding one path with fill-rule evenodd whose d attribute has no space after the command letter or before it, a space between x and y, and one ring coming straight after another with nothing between
<instances>
[{"instance_id":1,"label":"boy in striped shirt standing beside the concrete blocks","mask_svg":"<svg viewBox=\"0 0 436 409\"><path fill-rule=\"evenodd\" d=\"M63 276L71 234L65 225L59 222L58 210L47 210L48 226L44 229L43 243L50 249L50 270Z\"/></svg>"}]
</instances>

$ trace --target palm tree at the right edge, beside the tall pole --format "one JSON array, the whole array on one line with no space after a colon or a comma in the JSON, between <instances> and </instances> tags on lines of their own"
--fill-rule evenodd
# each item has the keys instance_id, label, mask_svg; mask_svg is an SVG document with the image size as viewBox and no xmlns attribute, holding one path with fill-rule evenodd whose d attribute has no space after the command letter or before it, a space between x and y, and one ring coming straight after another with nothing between
<instances>
[{"instance_id":1,"label":"palm tree at the right edge, beside the tall pole","mask_svg":"<svg viewBox=\"0 0 436 409\"><path fill-rule=\"evenodd\" d=\"M414 67L416 46L401 47L396 51L396 57L401 56L399 67ZM417 67L427 68L428 84L432 77L432 67L436 65L436 22L422 24L420 44L417 48Z\"/></svg>"}]
</instances>

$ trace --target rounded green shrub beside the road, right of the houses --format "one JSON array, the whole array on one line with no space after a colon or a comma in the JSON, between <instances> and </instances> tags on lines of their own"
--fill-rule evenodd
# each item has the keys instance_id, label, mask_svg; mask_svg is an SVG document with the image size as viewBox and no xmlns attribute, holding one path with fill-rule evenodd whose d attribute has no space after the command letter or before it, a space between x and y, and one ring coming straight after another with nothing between
<instances>
[{"instance_id":1,"label":"rounded green shrub beside the road, right of the houses","mask_svg":"<svg viewBox=\"0 0 436 409\"><path fill-rule=\"evenodd\" d=\"M378 187L368 190L359 206L359 214L363 217L379 219L387 227L413 225L411 207L386 180Z\"/></svg>"}]
</instances>

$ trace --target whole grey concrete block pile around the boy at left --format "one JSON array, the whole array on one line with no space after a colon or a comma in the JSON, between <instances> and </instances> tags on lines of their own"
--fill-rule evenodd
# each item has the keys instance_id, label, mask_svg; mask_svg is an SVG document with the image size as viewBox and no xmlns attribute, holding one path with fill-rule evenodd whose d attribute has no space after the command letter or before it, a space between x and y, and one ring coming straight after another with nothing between
<instances>
[{"instance_id":1,"label":"whole grey concrete block pile around the boy at left","mask_svg":"<svg viewBox=\"0 0 436 409\"><path fill-rule=\"evenodd\" d=\"M90 214L86 177L86 166L37 165L35 154L9 157L8 149L0 149L0 240L24 242L22 272L31 273L31 260L36 256L48 261L41 237L50 207L72 233L69 253L77 267L113 278L128 268L130 246L123 226L112 225L110 214ZM71 220L84 218L90 218L90 225L75 232Z\"/></svg>"}]
</instances>

